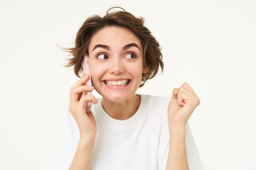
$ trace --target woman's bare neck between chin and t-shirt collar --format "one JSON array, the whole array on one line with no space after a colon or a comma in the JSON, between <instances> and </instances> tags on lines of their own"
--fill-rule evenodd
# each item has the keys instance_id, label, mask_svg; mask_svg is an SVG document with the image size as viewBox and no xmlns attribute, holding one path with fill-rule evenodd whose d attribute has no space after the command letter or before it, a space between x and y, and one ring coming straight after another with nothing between
<instances>
[{"instance_id":1,"label":"woman's bare neck between chin and t-shirt collar","mask_svg":"<svg viewBox=\"0 0 256 170\"><path fill-rule=\"evenodd\" d=\"M125 120L131 118L138 110L140 96L134 94L123 102L112 102L102 98L101 105L105 112L114 119Z\"/></svg>"}]
</instances>

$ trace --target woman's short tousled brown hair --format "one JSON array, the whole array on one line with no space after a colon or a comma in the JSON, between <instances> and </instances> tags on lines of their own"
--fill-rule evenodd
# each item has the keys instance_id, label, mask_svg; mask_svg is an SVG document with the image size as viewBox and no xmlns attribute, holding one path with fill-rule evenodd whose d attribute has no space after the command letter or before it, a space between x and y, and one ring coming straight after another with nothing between
<instances>
[{"instance_id":1,"label":"woman's short tousled brown hair","mask_svg":"<svg viewBox=\"0 0 256 170\"><path fill-rule=\"evenodd\" d=\"M164 64L159 43L144 26L144 19L142 17L135 17L125 10L111 13L108 11L104 17L94 15L84 21L77 33L75 47L64 49L64 51L73 55L73 58L68 59L69 62L66 67L74 65L75 74L79 77L83 57L84 55L89 55L88 47L92 36L107 26L123 27L132 31L140 39L143 53L143 68L149 68L147 73L142 73L142 80L139 86L141 87L146 80L152 79L158 73L159 66L161 72L163 71Z\"/></svg>"}]
</instances>

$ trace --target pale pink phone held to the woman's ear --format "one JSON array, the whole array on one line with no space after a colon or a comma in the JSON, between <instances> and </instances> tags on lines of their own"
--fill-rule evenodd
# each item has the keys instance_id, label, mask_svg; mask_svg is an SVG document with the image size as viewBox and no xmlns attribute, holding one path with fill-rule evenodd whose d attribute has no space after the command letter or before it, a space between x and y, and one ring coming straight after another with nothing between
<instances>
[{"instance_id":1,"label":"pale pink phone held to the woman's ear","mask_svg":"<svg viewBox=\"0 0 256 170\"><path fill-rule=\"evenodd\" d=\"M89 68L89 57L87 55L85 55L83 58L82 72L84 74L89 75L89 80L84 85L92 86L91 72L90 72L90 68ZM91 94L92 94L92 92L83 91L83 95L91 95ZM92 106L92 102L86 102L85 108L86 108L87 114L90 112L91 106Z\"/></svg>"}]
</instances>

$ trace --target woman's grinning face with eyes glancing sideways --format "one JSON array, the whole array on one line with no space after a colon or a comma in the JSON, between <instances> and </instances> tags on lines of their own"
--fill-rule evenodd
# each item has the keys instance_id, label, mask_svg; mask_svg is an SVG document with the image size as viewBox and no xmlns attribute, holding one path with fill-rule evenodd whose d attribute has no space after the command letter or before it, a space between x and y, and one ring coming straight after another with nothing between
<instances>
[{"instance_id":1,"label":"woman's grinning face with eyes glancing sideways","mask_svg":"<svg viewBox=\"0 0 256 170\"><path fill-rule=\"evenodd\" d=\"M93 35L89 44L93 85L112 102L123 102L138 89L143 68L142 46L130 30L108 26Z\"/></svg>"}]
</instances>

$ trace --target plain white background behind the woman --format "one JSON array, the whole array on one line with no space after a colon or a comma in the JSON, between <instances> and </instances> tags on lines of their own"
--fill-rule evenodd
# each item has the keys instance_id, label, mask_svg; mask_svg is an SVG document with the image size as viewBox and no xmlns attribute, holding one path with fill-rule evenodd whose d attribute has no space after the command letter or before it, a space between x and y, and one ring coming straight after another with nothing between
<instances>
[{"instance_id":1,"label":"plain white background behind the woman","mask_svg":"<svg viewBox=\"0 0 256 170\"><path fill-rule=\"evenodd\" d=\"M255 170L254 0L9 0L0 2L0 169L43 170L78 78L65 68L83 21L120 5L158 39L164 74L138 93L171 97L188 82L190 118L206 170ZM98 97L98 95L97 95Z\"/></svg>"}]
</instances>

